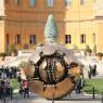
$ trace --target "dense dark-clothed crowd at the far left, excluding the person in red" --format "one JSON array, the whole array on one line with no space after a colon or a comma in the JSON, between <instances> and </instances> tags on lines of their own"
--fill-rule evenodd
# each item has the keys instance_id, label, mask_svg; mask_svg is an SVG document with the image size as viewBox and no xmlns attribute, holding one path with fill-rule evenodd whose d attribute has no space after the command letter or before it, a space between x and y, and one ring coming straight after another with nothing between
<instances>
[{"instance_id":1,"label":"dense dark-clothed crowd at the far left, excluding the person in red","mask_svg":"<svg viewBox=\"0 0 103 103\"><path fill-rule=\"evenodd\" d=\"M0 99L5 100L7 96L12 99L13 86L12 79L16 78L17 67L0 67Z\"/></svg>"}]
</instances>

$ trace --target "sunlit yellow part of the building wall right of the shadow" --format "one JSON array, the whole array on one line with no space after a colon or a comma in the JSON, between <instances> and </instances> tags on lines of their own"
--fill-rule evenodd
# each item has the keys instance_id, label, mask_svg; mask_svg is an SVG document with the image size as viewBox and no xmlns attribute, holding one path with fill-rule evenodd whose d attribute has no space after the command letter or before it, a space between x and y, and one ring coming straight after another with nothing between
<instances>
[{"instance_id":1,"label":"sunlit yellow part of the building wall right of the shadow","mask_svg":"<svg viewBox=\"0 0 103 103\"><path fill-rule=\"evenodd\" d=\"M65 35L72 35L72 44L66 46L73 48L76 44L78 49L85 49L86 44L89 44L92 49L92 34L95 34L94 2L93 0L87 0L83 5L79 3L78 0L74 0L73 4L66 8ZM86 35L86 43L80 42L80 35Z\"/></svg>"}]
</instances>

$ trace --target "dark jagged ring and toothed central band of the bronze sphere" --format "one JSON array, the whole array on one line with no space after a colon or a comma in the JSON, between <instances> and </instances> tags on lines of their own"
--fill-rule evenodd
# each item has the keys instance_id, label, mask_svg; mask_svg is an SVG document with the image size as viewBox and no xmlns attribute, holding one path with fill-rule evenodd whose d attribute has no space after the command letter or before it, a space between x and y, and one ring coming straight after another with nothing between
<instances>
[{"instance_id":1,"label":"dark jagged ring and toothed central band of the bronze sphere","mask_svg":"<svg viewBox=\"0 0 103 103\"><path fill-rule=\"evenodd\" d=\"M39 55L40 60L37 63L29 61L29 63L34 65L35 69L34 77L30 78L42 81L44 89L48 85L55 87L56 83L61 82L65 78L69 78L70 81L75 83L75 77L70 76L69 69L78 66L78 64L75 62L67 64L64 59L65 53L60 54L57 51L55 51L53 54L46 55L43 52L41 52ZM46 72L46 80L41 77L40 74L40 65L43 61L47 63L46 68L43 69ZM63 66L63 74L60 77L56 76L56 62Z\"/></svg>"}]
</instances>

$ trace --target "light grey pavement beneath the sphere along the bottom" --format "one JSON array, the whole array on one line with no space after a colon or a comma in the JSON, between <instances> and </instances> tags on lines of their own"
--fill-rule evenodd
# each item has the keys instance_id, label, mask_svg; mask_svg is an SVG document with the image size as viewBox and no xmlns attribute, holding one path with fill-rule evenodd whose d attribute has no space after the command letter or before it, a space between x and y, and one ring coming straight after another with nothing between
<instances>
[{"instance_id":1,"label":"light grey pavement beneath the sphere along the bottom","mask_svg":"<svg viewBox=\"0 0 103 103\"><path fill-rule=\"evenodd\" d=\"M4 103L0 101L0 103ZM51 100L46 100L40 98L37 94L30 94L30 98L23 98L23 95L15 94L13 100L7 99L5 103L103 103L101 95L95 95L95 99L92 99L92 95L83 94L72 94L70 96L65 96L64 99L56 100L52 102Z\"/></svg>"}]
</instances>

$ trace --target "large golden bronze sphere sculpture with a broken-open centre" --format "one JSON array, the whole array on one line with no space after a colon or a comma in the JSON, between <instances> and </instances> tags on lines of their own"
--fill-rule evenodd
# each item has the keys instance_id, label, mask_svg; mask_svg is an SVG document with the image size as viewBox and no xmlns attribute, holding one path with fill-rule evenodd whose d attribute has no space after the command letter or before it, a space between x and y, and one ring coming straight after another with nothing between
<instances>
[{"instance_id":1,"label":"large golden bronze sphere sculpture with a broken-open centre","mask_svg":"<svg viewBox=\"0 0 103 103\"><path fill-rule=\"evenodd\" d=\"M60 99L75 88L80 68L72 50L44 43L36 47L25 73L34 92L46 99Z\"/></svg>"}]
</instances>

